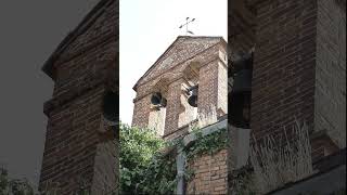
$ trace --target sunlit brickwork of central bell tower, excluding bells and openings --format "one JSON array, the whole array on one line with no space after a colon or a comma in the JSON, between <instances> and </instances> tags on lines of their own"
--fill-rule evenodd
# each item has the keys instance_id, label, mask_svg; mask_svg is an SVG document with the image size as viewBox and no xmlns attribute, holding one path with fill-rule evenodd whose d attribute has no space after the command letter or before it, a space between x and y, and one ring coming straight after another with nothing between
<instances>
[{"instance_id":1,"label":"sunlit brickwork of central bell tower, excluding bells and openings","mask_svg":"<svg viewBox=\"0 0 347 195\"><path fill-rule=\"evenodd\" d=\"M172 138L172 133L187 123L185 118L190 116L185 115L193 112L184 112L182 84L196 81L200 84L197 112L214 105L226 114L226 103L220 103L227 100L221 98L223 94L227 96L227 78L221 78L227 76L226 56L226 42L219 37L178 37L134 86L137 98L133 101L132 126L147 127L151 123L151 95L160 91L167 99L164 138ZM219 82L226 83L219 87Z\"/></svg>"}]
</instances>

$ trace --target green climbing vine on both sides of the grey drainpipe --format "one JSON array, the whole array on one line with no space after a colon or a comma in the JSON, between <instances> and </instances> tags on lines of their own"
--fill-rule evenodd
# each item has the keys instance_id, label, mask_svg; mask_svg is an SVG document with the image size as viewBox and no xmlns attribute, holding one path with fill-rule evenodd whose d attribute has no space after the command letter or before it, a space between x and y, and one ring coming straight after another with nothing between
<instances>
[{"instance_id":1,"label":"green climbing vine on both sides of the grey drainpipe","mask_svg":"<svg viewBox=\"0 0 347 195\"><path fill-rule=\"evenodd\" d=\"M196 141L185 147L188 160L203 154L214 154L227 146L224 129L203 136L194 130ZM120 125L120 194L174 194L177 186L177 148L182 139L164 142L150 129ZM185 170L190 180L193 171Z\"/></svg>"}]
</instances>

